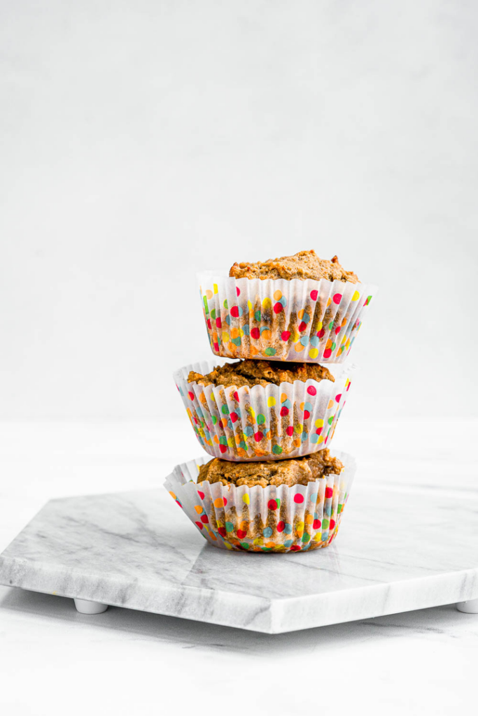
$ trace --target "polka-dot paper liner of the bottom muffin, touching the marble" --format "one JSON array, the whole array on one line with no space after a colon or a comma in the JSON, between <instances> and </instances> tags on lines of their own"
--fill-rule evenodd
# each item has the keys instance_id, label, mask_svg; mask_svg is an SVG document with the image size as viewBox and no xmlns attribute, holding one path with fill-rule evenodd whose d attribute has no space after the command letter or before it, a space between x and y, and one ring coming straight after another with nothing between
<instances>
[{"instance_id":1,"label":"polka-dot paper liner of the bottom muffin, touching the marble","mask_svg":"<svg viewBox=\"0 0 478 716\"><path fill-rule=\"evenodd\" d=\"M303 552L327 547L337 535L355 474L355 460L336 453L340 475L307 485L196 484L207 458L176 465L165 480L171 497L216 547L249 552Z\"/></svg>"}]
</instances>

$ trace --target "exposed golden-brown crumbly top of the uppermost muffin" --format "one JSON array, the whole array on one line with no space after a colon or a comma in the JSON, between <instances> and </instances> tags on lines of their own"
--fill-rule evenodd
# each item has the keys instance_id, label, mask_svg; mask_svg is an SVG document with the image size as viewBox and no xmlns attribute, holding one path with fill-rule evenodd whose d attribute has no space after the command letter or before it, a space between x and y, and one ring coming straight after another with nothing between
<instances>
[{"instance_id":1,"label":"exposed golden-brown crumbly top of the uppermost muffin","mask_svg":"<svg viewBox=\"0 0 478 716\"><path fill-rule=\"evenodd\" d=\"M234 276L235 279L327 279L358 283L358 277L353 271L345 271L343 266L340 266L337 256L327 261L326 258L319 258L313 250L299 251L293 256L269 258L256 263L234 263L229 270L229 276Z\"/></svg>"}]
</instances>

